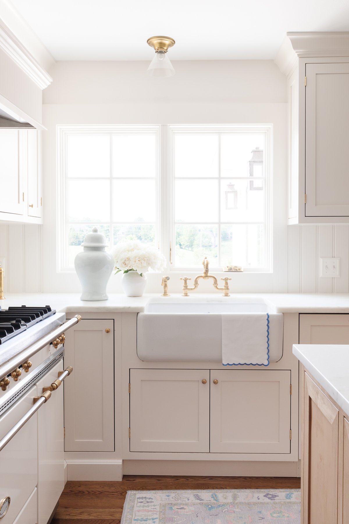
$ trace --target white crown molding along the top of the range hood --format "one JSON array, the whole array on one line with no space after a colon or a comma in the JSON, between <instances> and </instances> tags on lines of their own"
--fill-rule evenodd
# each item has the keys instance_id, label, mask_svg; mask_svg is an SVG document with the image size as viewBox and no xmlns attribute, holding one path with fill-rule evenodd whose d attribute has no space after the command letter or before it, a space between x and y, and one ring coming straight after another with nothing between
<instances>
[{"instance_id":1,"label":"white crown molding along the top of the range hood","mask_svg":"<svg viewBox=\"0 0 349 524\"><path fill-rule=\"evenodd\" d=\"M52 82L50 75L9 30L2 19L0 19L0 49L8 54L40 89L45 89L50 85Z\"/></svg>"}]
</instances>

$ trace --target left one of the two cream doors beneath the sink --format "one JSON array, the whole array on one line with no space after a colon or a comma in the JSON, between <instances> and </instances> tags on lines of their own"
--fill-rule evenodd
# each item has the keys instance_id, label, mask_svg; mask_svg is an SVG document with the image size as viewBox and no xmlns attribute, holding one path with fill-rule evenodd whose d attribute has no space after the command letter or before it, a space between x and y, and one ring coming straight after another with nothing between
<instances>
[{"instance_id":1,"label":"left one of the two cream doors beneath the sink","mask_svg":"<svg viewBox=\"0 0 349 524\"><path fill-rule=\"evenodd\" d=\"M130 370L130 451L209 452L209 370Z\"/></svg>"}]
</instances>

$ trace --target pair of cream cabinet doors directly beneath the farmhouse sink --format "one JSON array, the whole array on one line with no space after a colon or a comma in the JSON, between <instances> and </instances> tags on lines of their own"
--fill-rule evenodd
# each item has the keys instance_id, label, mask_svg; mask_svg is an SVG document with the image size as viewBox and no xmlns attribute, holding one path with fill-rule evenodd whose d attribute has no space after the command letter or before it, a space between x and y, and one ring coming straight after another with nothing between
<instances>
[{"instance_id":1,"label":"pair of cream cabinet doors directly beneath the farmhouse sink","mask_svg":"<svg viewBox=\"0 0 349 524\"><path fill-rule=\"evenodd\" d=\"M290 453L290 371L131 369L130 451Z\"/></svg>"}]
</instances>

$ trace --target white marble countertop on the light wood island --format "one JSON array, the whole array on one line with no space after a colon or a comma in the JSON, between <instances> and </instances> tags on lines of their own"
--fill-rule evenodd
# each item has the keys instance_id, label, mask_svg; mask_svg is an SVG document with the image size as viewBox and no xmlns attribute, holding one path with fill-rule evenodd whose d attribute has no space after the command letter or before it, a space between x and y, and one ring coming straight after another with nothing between
<instances>
[{"instance_id":1,"label":"white marble countertop on the light wood island","mask_svg":"<svg viewBox=\"0 0 349 524\"><path fill-rule=\"evenodd\" d=\"M293 353L349 416L349 345L294 344Z\"/></svg>"}]
</instances>

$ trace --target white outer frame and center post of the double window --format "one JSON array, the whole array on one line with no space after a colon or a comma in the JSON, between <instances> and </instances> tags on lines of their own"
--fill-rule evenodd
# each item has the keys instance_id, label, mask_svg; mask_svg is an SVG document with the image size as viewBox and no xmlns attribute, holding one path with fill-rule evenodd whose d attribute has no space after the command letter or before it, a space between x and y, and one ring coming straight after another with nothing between
<instances>
[{"instance_id":1,"label":"white outer frame and center post of the double window","mask_svg":"<svg viewBox=\"0 0 349 524\"><path fill-rule=\"evenodd\" d=\"M256 272L258 274L273 271L273 243L272 243L272 224L273 224L273 124L246 124L246 125L57 125L57 272L73 273L74 268L66 264L66 238L67 238L67 188L66 188L66 140L71 134L96 134L96 133L129 133L137 130L150 130L159 135L157 145L159 150L158 172L156 174L156 227L155 243L167 261L166 271L189 272L197 274L198 268L193 267L174 267L170 265L170 242L172 249L175 249L174 231L174 172L173 172L173 136L175 132L219 132L219 133L260 133L265 136L265 223L266 223L266 267L265 268L244 268L245 272ZM63 147L62 147L63 146ZM111 151L110 151L111 154ZM110 162L110 169L112 165ZM111 171L112 172L112 171ZM111 198L111 195L110 195ZM93 226L95 224L91 224ZM98 224L96 224L98 225ZM110 242L112 242L112 232L110 232ZM232 261L234 263L234 261ZM221 271L221 267L210 265L211 270Z\"/></svg>"}]
</instances>

